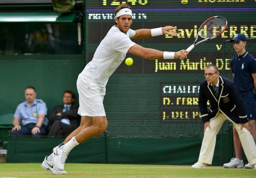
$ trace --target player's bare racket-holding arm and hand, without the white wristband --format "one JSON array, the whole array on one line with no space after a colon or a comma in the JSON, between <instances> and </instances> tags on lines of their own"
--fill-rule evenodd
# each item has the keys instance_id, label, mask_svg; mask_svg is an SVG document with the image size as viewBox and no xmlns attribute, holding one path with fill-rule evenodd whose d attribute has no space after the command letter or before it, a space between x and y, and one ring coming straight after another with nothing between
<instances>
[{"instance_id":1,"label":"player's bare racket-holding arm and hand, without the white wristband","mask_svg":"<svg viewBox=\"0 0 256 178\"><path fill-rule=\"evenodd\" d=\"M145 48L142 47L138 44L134 44L133 46L130 47L128 52L140 56L145 59L164 59L164 52L156 49L151 49L151 48ZM187 50L180 50L178 52L175 52L174 54L174 59L184 59L187 58L188 51Z\"/></svg>"}]
</instances>

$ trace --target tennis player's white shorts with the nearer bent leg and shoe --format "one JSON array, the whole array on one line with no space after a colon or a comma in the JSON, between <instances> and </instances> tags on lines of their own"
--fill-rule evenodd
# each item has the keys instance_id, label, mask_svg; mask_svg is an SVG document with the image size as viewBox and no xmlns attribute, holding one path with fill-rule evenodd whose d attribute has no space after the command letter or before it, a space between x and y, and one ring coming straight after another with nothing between
<instances>
[{"instance_id":1,"label":"tennis player's white shorts with the nearer bent leg and shoe","mask_svg":"<svg viewBox=\"0 0 256 178\"><path fill-rule=\"evenodd\" d=\"M101 88L97 83L78 77L77 90L79 93L78 114L82 116L81 125L74 133L71 133L71 135L75 134L75 136L71 138L70 135L65 140L65 142L67 141L66 144L64 142L53 149L55 155L53 159L54 165L60 171L64 170L66 158L75 146L104 132L107 128L107 117L103 105L105 88Z\"/></svg>"}]
</instances>

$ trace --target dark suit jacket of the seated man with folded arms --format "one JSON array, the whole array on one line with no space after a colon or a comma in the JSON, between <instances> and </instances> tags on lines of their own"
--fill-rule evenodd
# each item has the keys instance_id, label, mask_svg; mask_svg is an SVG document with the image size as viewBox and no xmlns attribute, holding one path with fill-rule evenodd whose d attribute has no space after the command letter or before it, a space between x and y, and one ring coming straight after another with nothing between
<instances>
[{"instance_id":1,"label":"dark suit jacket of the seated man with folded arms","mask_svg":"<svg viewBox=\"0 0 256 178\"><path fill-rule=\"evenodd\" d=\"M55 106L53 111L51 112L51 115L49 117L49 120L51 122L54 122L55 120L61 120L64 118L68 118L70 121L70 124L74 126L74 129L78 128L80 125L81 116L77 114L78 111L78 105L71 105L71 108L63 112L64 105ZM57 113L62 113L61 116L57 116Z\"/></svg>"}]
</instances>

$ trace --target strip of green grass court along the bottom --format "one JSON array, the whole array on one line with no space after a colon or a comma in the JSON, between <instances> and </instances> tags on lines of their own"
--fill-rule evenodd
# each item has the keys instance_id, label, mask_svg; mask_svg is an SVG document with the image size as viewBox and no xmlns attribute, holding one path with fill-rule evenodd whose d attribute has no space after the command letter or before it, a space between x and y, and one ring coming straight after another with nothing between
<instances>
[{"instance_id":1,"label":"strip of green grass court along the bottom","mask_svg":"<svg viewBox=\"0 0 256 178\"><path fill-rule=\"evenodd\" d=\"M208 166L192 169L176 165L122 165L66 163L66 175L54 175L40 167L41 163L0 163L0 178L255 178L255 169L225 169Z\"/></svg>"}]
</instances>

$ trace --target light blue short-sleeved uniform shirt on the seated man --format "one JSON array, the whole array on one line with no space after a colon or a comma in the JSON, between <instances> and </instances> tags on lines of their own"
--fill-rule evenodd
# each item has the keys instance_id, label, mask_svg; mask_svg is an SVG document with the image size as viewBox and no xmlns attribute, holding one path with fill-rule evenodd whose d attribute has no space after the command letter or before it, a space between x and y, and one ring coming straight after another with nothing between
<instances>
[{"instance_id":1,"label":"light blue short-sleeved uniform shirt on the seated man","mask_svg":"<svg viewBox=\"0 0 256 178\"><path fill-rule=\"evenodd\" d=\"M42 99L35 99L34 103L30 106L27 103L27 100L21 102L15 113L14 117L20 118L23 125L29 123L37 123L39 114L45 114L43 121L44 125L48 125L47 107L45 102Z\"/></svg>"}]
</instances>

